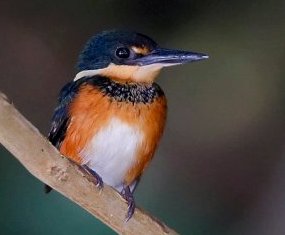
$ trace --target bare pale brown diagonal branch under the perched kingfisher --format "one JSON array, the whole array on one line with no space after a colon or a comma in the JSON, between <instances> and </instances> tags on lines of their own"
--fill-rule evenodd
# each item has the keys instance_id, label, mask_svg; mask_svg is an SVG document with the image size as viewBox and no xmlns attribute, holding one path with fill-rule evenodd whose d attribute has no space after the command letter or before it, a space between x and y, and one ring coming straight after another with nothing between
<instances>
[{"instance_id":1,"label":"bare pale brown diagonal branch under the perched kingfisher","mask_svg":"<svg viewBox=\"0 0 285 235\"><path fill-rule=\"evenodd\" d=\"M0 93L0 143L36 178L69 198L119 234L177 234L137 208L126 223L127 205L111 187L102 191L78 166L60 155Z\"/></svg>"}]
</instances>

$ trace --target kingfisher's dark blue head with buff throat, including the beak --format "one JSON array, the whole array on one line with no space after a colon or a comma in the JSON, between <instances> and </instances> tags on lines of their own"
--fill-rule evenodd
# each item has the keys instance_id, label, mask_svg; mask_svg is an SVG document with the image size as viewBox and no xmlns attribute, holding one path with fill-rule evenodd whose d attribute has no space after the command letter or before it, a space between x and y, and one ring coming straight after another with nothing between
<instances>
[{"instance_id":1,"label":"kingfisher's dark blue head with buff throat, including the beak","mask_svg":"<svg viewBox=\"0 0 285 235\"><path fill-rule=\"evenodd\" d=\"M102 75L120 82L152 83L163 67L206 58L202 53L161 48L140 33L104 31L87 42L74 80Z\"/></svg>"}]
</instances>

